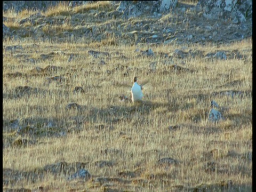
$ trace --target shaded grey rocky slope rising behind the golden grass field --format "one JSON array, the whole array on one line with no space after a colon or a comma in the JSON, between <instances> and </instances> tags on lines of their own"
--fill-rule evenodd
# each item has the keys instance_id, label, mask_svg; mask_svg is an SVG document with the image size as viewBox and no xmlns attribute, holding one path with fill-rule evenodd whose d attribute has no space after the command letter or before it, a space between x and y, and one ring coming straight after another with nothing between
<instances>
[{"instance_id":1,"label":"shaded grey rocky slope rising behind the golden grass field","mask_svg":"<svg viewBox=\"0 0 256 192\"><path fill-rule=\"evenodd\" d=\"M3 35L58 39L60 42L67 39L81 41L81 38L105 42L111 36L115 42L108 43L116 44L228 43L252 36L250 0L209 0L199 1L196 5L172 1L165 8L163 3L121 1L90 6L89 3L70 2L67 10L56 10L50 15L45 14L41 5L38 7L42 10L27 18L4 17ZM29 2L5 2L3 5L4 9L14 6L15 10L20 10L29 7ZM6 26L10 20L18 27Z\"/></svg>"}]
</instances>

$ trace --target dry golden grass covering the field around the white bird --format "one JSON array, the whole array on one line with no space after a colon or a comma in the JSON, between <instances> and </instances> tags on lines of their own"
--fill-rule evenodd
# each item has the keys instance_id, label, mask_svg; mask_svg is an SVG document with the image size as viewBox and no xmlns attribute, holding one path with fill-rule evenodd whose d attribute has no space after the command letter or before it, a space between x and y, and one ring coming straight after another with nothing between
<instances>
[{"instance_id":1,"label":"dry golden grass covering the field around the white bird","mask_svg":"<svg viewBox=\"0 0 256 192\"><path fill-rule=\"evenodd\" d=\"M100 2L74 11L80 13L94 6L99 9L108 5L109 2ZM54 10L57 15L63 15L65 9L68 11L66 6L60 7L59 12ZM53 12L48 10L45 14L50 17ZM62 27L56 26L55 33L61 32ZM186 45L139 47L141 50L151 48L155 53L171 53L175 49L205 53L238 50L246 55L246 59L224 61L188 57L184 60L185 67L194 70L193 73L173 73L159 54L137 57L134 53L137 46L115 40L115 36L109 36L98 43L40 41L36 42L37 46L29 39L3 41L3 47L23 47L12 53L3 51L3 167L23 174L29 172L31 177L12 178L7 187L42 187L45 191L213 191L213 188L230 187L231 180L234 191L252 190L252 97L250 94L243 98L211 94L225 90L252 91L251 52L245 51L251 50L252 40L218 47L213 44L192 44L187 48ZM125 58L114 54L94 58L88 54L89 50L119 52ZM50 54L55 51L66 54ZM67 62L70 54L75 55L74 61ZM27 58L35 59L36 65ZM101 60L106 65L100 65ZM155 73L148 72L150 62L157 62ZM60 68L49 70L49 65ZM118 65L124 69L113 70ZM126 76L123 75L125 66L130 67ZM31 71L35 67L42 68L42 72ZM23 75L6 76L17 71ZM46 79L56 76L66 80ZM130 97L130 89L124 85L132 86L134 76L138 76L141 83L149 81L149 89L144 91L145 100L138 105L119 102L119 95ZM18 86L37 90L16 97ZM85 92L74 94L75 86L82 86ZM207 122L211 100L228 108L223 110L225 121ZM67 109L70 102L82 106L81 109ZM23 119L20 126L22 122L26 125L29 118L30 125L36 129L35 134L22 135L31 140L30 146L19 146L21 136L10 129L11 121L18 118ZM44 129L48 121L55 125ZM177 126L170 129L173 125ZM29 126L24 130L29 131ZM61 136L63 132L65 136ZM12 145L13 142L18 146ZM157 163L164 157L178 163ZM99 161L109 164L101 167ZM67 182L66 174L43 170L44 166L58 162L87 163L85 169L92 178ZM40 173L44 177L38 176ZM33 178L33 175L36 176Z\"/></svg>"}]
</instances>

